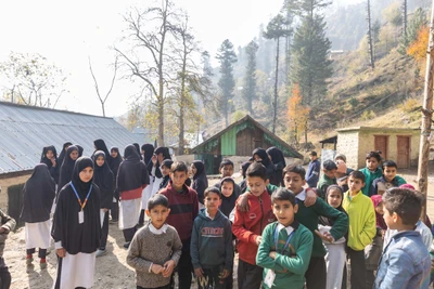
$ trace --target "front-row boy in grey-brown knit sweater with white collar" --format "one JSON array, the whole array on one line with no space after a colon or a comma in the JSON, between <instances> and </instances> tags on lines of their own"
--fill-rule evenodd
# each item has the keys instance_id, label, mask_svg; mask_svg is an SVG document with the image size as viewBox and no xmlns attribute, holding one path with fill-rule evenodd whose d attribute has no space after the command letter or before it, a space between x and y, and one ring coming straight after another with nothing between
<instances>
[{"instance_id":1,"label":"front-row boy in grey-brown knit sweater with white collar","mask_svg":"<svg viewBox=\"0 0 434 289\"><path fill-rule=\"evenodd\" d=\"M145 224L132 238L127 263L136 270L137 289L169 289L170 276L181 255L177 231L166 224L170 212L165 196L156 194L148 201Z\"/></svg>"}]
</instances>

